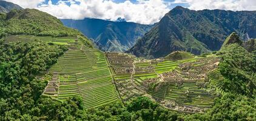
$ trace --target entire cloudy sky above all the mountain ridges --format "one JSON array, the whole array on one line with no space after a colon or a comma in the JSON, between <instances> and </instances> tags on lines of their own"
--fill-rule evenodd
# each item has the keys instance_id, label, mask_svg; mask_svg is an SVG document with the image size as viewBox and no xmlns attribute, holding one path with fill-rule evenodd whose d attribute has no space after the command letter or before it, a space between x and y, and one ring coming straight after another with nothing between
<instances>
[{"instance_id":1,"label":"entire cloudy sky above all the mountain ridges","mask_svg":"<svg viewBox=\"0 0 256 121\"><path fill-rule=\"evenodd\" d=\"M153 24L177 5L190 10L256 10L256 0L5 0L36 8L59 19L118 18Z\"/></svg>"}]
</instances>

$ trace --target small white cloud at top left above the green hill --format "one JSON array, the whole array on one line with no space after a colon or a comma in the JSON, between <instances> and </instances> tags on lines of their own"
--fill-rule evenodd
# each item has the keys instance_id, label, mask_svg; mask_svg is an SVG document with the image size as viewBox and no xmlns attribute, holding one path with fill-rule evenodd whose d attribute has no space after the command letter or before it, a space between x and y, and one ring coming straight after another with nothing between
<instances>
[{"instance_id":1,"label":"small white cloud at top left above the green hill","mask_svg":"<svg viewBox=\"0 0 256 121\"><path fill-rule=\"evenodd\" d=\"M12 2L14 4L18 4L23 8L35 8L38 4L41 2L44 2L45 0L5 0L8 2Z\"/></svg>"}]
</instances>

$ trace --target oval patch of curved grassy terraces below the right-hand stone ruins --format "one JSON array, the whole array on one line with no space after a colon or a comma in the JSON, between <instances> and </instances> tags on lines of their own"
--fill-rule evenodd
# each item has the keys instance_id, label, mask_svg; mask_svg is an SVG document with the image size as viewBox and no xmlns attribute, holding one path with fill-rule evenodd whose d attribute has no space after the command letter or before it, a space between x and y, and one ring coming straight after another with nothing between
<instances>
[{"instance_id":1,"label":"oval patch of curved grassy terraces below the right-hand stone ruins","mask_svg":"<svg viewBox=\"0 0 256 121\"><path fill-rule=\"evenodd\" d=\"M199 108L211 107L214 100L212 94L197 87L195 83L183 83L181 87L170 84L161 87L158 91L151 91L150 94L161 99L173 100L180 105L197 106Z\"/></svg>"}]
</instances>

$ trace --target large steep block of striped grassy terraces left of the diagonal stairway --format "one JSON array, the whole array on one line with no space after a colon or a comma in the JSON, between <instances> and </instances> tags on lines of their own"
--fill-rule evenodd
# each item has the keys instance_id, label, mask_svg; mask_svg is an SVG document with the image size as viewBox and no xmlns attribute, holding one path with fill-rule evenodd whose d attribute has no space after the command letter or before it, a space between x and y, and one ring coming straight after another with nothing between
<instances>
[{"instance_id":1,"label":"large steep block of striped grassy terraces left of the diagonal stairway","mask_svg":"<svg viewBox=\"0 0 256 121\"><path fill-rule=\"evenodd\" d=\"M49 71L59 74L60 100L81 96L86 108L118 100L104 53L96 49L69 49Z\"/></svg>"}]
</instances>

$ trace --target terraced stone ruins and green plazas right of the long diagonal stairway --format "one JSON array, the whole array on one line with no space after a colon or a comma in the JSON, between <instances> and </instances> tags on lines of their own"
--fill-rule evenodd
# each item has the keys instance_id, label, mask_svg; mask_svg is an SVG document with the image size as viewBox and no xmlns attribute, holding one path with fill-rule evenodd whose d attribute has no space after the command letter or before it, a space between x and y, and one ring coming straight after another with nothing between
<instances>
[{"instance_id":1,"label":"terraced stone ruins and green plazas right of the long diagonal stairway","mask_svg":"<svg viewBox=\"0 0 256 121\"><path fill-rule=\"evenodd\" d=\"M167 108L201 112L221 94L218 58L144 60L124 53L107 53L116 87L123 100L148 95Z\"/></svg>"}]
</instances>

